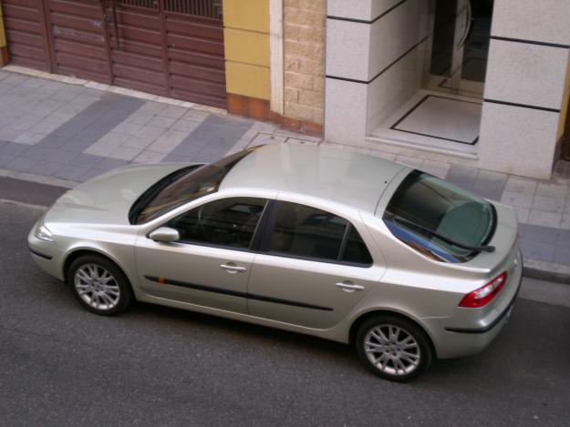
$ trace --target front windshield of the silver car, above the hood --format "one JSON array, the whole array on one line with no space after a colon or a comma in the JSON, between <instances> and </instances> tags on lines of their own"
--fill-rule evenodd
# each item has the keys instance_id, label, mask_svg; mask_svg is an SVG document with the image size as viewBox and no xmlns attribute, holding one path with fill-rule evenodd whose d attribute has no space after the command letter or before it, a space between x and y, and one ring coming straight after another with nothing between
<instances>
[{"instance_id":1,"label":"front windshield of the silver car, above the hood","mask_svg":"<svg viewBox=\"0 0 570 427\"><path fill-rule=\"evenodd\" d=\"M160 217L173 208L216 192L223 178L252 149L233 154L211 165L191 169L190 172L175 172L146 190L130 208L130 223L142 224Z\"/></svg>"}]
</instances>

